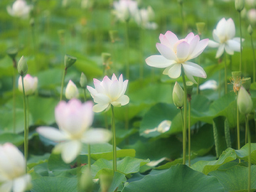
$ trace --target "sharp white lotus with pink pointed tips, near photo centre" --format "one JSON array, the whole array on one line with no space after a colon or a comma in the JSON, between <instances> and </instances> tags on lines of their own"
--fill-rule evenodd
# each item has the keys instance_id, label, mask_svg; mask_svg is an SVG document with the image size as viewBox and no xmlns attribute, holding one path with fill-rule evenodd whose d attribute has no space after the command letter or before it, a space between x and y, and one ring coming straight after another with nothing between
<instances>
[{"instance_id":1,"label":"sharp white lotus with pink pointed tips, near photo centre","mask_svg":"<svg viewBox=\"0 0 256 192\"><path fill-rule=\"evenodd\" d=\"M93 82L95 89L87 86L87 90L90 91L93 100L97 103L92 108L94 112L108 110L110 105L121 107L122 105L127 105L129 102L129 97L124 95L124 92L127 90L128 80L123 81L122 75L120 75L119 80L113 74L111 80L105 76L102 82L97 79L93 79Z\"/></svg>"}]
</instances>

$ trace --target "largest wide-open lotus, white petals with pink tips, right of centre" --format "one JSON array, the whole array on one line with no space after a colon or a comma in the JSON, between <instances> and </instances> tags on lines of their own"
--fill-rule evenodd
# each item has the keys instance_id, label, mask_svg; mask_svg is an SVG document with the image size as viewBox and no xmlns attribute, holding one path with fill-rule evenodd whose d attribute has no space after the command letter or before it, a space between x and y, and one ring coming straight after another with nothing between
<instances>
[{"instance_id":1,"label":"largest wide-open lotus, white petals with pink tips, right of centre","mask_svg":"<svg viewBox=\"0 0 256 192\"><path fill-rule=\"evenodd\" d=\"M208 39L200 41L198 35L189 33L186 38L178 40L171 31L159 36L161 43L156 43L156 48L161 55L151 55L146 58L146 64L154 68L166 68L164 75L178 78L181 75L181 66L189 80L196 83L193 76L206 78L206 72L196 63L189 62L200 55L208 45Z\"/></svg>"}]
</instances>

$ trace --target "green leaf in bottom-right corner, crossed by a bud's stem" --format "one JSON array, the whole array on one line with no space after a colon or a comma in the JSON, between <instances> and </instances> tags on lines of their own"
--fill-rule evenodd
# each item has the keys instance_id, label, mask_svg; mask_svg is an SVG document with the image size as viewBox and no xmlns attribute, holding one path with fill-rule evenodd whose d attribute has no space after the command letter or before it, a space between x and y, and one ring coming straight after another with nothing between
<instances>
[{"instance_id":1,"label":"green leaf in bottom-right corner, crossed by a bud's stem","mask_svg":"<svg viewBox=\"0 0 256 192\"><path fill-rule=\"evenodd\" d=\"M251 167L251 191L256 191L256 166ZM210 172L224 186L225 191L247 191L248 168L245 166L233 166L230 169Z\"/></svg>"}]
</instances>

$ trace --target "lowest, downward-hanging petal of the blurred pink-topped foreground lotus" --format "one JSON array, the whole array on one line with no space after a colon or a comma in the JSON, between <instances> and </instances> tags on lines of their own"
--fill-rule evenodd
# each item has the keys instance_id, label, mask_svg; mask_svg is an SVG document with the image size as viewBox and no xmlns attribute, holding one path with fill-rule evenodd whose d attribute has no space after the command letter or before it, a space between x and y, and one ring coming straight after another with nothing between
<instances>
[{"instance_id":1,"label":"lowest, downward-hanging petal of the blurred pink-topped foreground lotus","mask_svg":"<svg viewBox=\"0 0 256 192\"><path fill-rule=\"evenodd\" d=\"M76 140L65 142L62 146L61 157L66 164L70 164L80 153L82 144Z\"/></svg>"}]
</instances>

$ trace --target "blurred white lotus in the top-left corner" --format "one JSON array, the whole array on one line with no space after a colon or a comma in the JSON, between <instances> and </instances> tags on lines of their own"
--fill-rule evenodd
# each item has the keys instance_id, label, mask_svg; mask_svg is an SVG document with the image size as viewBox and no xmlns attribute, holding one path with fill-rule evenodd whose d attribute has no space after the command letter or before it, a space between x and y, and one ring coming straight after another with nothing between
<instances>
[{"instance_id":1,"label":"blurred white lotus in the top-left corner","mask_svg":"<svg viewBox=\"0 0 256 192\"><path fill-rule=\"evenodd\" d=\"M24 0L16 0L11 6L7 6L7 12L11 16L28 18L29 12L31 11L32 6L26 4Z\"/></svg>"}]
</instances>

